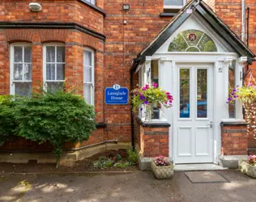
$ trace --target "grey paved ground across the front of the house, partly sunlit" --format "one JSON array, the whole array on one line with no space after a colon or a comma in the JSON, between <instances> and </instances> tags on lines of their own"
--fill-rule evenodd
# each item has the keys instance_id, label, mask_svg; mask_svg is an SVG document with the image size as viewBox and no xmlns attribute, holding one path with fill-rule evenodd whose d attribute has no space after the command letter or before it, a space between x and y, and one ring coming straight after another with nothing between
<instances>
[{"instance_id":1,"label":"grey paved ground across the front of the house, partly sunlit","mask_svg":"<svg viewBox=\"0 0 256 202\"><path fill-rule=\"evenodd\" d=\"M177 172L157 180L151 172L125 175L0 175L0 201L256 201L256 180L222 170L230 183L191 183Z\"/></svg>"}]
</instances>

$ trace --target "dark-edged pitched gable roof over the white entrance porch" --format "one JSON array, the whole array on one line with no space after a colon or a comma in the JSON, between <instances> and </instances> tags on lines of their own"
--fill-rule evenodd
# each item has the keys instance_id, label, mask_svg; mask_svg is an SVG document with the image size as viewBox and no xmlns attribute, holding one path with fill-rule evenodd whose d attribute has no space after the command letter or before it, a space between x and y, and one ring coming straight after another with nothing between
<instances>
[{"instance_id":1,"label":"dark-edged pitched gable roof over the white entrance porch","mask_svg":"<svg viewBox=\"0 0 256 202\"><path fill-rule=\"evenodd\" d=\"M187 12L188 9L193 9L197 12L212 29L222 37L241 57L248 57L248 63L252 64L254 53L247 47L247 45L240 39L235 32L233 32L227 24L225 24L209 6L202 0L192 0L181 11L177 13L170 20L170 22L156 35L156 37L143 49L139 55L134 58L131 70L134 71L138 65L142 65L146 61L147 56L152 56L157 49L192 15Z\"/></svg>"}]
</instances>

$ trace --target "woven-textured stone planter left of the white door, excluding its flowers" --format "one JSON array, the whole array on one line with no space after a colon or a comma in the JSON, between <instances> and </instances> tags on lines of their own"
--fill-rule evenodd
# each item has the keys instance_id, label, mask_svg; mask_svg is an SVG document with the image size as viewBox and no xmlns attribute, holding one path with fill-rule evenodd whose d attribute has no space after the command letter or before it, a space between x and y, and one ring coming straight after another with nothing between
<instances>
[{"instance_id":1,"label":"woven-textured stone planter left of the white door, excluding its flowers","mask_svg":"<svg viewBox=\"0 0 256 202\"><path fill-rule=\"evenodd\" d=\"M151 170L156 179L173 178L174 166L171 162L169 162L169 165L170 166L156 166L156 163L154 161L151 161Z\"/></svg>"}]
</instances>

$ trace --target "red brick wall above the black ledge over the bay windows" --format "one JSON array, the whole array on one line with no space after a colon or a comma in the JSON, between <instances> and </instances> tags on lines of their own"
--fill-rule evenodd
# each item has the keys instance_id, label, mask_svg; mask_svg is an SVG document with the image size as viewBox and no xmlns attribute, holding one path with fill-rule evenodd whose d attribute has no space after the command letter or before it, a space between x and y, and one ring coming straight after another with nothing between
<instances>
[{"instance_id":1,"label":"red brick wall above the black ledge over the bay windows","mask_svg":"<svg viewBox=\"0 0 256 202\"><path fill-rule=\"evenodd\" d=\"M4 0L0 4L0 21L79 23L103 32L104 16L78 0L39 0L42 11L31 12L28 0ZM101 2L102 5L102 2Z\"/></svg>"}]
</instances>

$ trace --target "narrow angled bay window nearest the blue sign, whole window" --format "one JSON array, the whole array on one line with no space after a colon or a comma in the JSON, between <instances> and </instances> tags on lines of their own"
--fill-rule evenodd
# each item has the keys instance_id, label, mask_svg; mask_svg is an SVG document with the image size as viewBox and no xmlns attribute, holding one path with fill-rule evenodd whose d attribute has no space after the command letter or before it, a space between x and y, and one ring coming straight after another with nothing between
<instances>
[{"instance_id":1,"label":"narrow angled bay window nearest the blue sign, whole window","mask_svg":"<svg viewBox=\"0 0 256 202\"><path fill-rule=\"evenodd\" d=\"M83 49L83 98L94 105L94 51Z\"/></svg>"}]
</instances>

